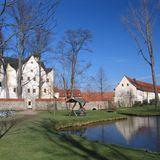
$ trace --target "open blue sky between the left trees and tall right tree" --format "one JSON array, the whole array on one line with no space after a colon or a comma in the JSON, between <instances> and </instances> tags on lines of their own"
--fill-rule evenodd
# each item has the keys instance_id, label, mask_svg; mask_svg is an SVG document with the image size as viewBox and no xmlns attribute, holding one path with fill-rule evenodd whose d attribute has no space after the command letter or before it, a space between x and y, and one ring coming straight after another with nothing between
<instances>
[{"instance_id":1,"label":"open blue sky between the left trees and tall right tree","mask_svg":"<svg viewBox=\"0 0 160 160\"><path fill-rule=\"evenodd\" d=\"M58 23L55 42L66 29L89 29L93 34L93 41L89 45L93 52L81 53L80 59L92 63L88 75L95 75L102 66L113 87L124 75L151 81L149 66L138 55L134 41L121 23L121 16L126 14L128 3L128 0L62 0L56 13ZM159 83L160 51L156 49L156 52Z\"/></svg>"}]
</instances>

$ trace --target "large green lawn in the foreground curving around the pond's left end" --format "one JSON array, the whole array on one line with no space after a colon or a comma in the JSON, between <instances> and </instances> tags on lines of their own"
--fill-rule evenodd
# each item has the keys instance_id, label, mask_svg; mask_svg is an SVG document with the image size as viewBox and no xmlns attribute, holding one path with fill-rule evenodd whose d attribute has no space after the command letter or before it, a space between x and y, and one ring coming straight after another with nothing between
<instances>
[{"instance_id":1,"label":"large green lawn in the foreground curving around the pond's left end","mask_svg":"<svg viewBox=\"0 0 160 160\"><path fill-rule=\"evenodd\" d=\"M116 113L92 111L87 117L68 117L66 112L39 112L17 122L0 139L1 160L159 160L160 154L117 145L92 142L78 136L60 134L54 128L89 121L122 117ZM94 134L94 133L93 133Z\"/></svg>"}]
</instances>

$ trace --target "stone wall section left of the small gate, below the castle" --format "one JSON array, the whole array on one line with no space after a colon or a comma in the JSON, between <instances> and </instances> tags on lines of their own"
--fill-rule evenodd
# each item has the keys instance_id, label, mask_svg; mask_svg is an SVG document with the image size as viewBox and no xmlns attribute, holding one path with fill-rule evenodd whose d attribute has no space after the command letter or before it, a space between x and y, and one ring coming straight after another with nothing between
<instances>
[{"instance_id":1,"label":"stone wall section left of the small gate, below the castle","mask_svg":"<svg viewBox=\"0 0 160 160\"><path fill-rule=\"evenodd\" d=\"M0 110L26 110L24 99L0 99Z\"/></svg>"}]
</instances>

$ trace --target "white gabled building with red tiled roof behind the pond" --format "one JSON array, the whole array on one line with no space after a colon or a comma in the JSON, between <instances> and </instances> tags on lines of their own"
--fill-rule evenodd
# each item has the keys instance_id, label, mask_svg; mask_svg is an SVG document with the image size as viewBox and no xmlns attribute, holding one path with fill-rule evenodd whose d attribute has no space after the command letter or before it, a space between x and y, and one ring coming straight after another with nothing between
<instances>
[{"instance_id":1,"label":"white gabled building with red tiled roof behind the pond","mask_svg":"<svg viewBox=\"0 0 160 160\"><path fill-rule=\"evenodd\" d=\"M157 86L160 97L160 86ZM119 106L132 106L135 102L150 103L155 99L153 84L124 76L115 88L115 103Z\"/></svg>"}]
</instances>

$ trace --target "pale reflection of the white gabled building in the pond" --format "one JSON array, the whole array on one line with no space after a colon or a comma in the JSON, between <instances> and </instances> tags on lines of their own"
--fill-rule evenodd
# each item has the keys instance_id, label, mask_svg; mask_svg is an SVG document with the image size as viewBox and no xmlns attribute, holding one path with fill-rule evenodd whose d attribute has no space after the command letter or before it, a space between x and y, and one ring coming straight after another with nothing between
<instances>
[{"instance_id":1,"label":"pale reflection of the white gabled building in the pond","mask_svg":"<svg viewBox=\"0 0 160 160\"><path fill-rule=\"evenodd\" d=\"M123 137L129 141L138 131L157 127L158 120L152 117L129 117L128 120L118 121L115 125Z\"/></svg>"}]
</instances>

